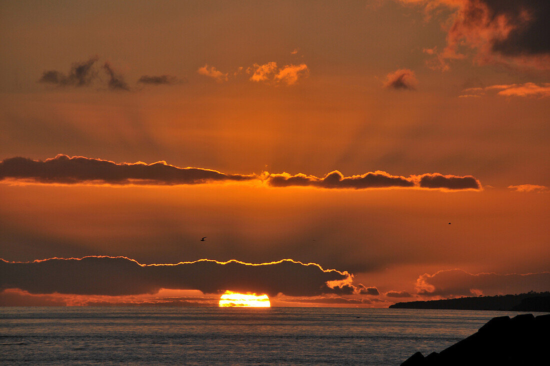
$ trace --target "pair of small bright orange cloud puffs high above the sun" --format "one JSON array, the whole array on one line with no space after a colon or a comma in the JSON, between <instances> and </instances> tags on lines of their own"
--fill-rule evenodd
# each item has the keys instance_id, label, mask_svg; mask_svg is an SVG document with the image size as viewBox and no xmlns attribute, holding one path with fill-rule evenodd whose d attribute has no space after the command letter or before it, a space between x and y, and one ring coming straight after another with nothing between
<instances>
[{"instance_id":1,"label":"pair of small bright orange cloud puffs high above the sun","mask_svg":"<svg viewBox=\"0 0 550 366\"><path fill-rule=\"evenodd\" d=\"M309 76L309 68L306 64L290 64L279 68L276 62L268 62L263 65L256 63L246 69L246 72L252 74L251 81L286 85L294 85L298 82L298 79Z\"/></svg>"}]
</instances>

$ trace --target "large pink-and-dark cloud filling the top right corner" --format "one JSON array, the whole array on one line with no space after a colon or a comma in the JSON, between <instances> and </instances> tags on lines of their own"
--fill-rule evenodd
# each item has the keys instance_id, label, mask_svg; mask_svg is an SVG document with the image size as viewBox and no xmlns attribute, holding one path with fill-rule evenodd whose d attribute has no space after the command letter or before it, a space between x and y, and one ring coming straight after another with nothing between
<instances>
[{"instance_id":1,"label":"large pink-and-dark cloud filling the top right corner","mask_svg":"<svg viewBox=\"0 0 550 366\"><path fill-rule=\"evenodd\" d=\"M464 47L479 64L550 69L550 3L547 0L400 0L420 4L427 14L440 7L454 10L446 23L447 46L435 53L441 68L462 59ZM449 23L450 21L450 23Z\"/></svg>"}]
</instances>

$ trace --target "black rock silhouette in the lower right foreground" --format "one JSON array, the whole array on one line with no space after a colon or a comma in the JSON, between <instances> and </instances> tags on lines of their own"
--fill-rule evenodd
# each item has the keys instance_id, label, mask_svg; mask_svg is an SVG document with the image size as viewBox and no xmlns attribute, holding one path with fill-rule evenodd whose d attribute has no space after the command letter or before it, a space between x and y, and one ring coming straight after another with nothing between
<instances>
[{"instance_id":1,"label":"black rock silhouette in the lower right foreground","mask_svg":"<svg viewBox=\"0 0 550 366\"><path fill-rule=\"evenodd\" d=\"M547 365L550 314L497 316L476 333L437 353L416 352L401 366Z\"/></svg>"}]
</instances>

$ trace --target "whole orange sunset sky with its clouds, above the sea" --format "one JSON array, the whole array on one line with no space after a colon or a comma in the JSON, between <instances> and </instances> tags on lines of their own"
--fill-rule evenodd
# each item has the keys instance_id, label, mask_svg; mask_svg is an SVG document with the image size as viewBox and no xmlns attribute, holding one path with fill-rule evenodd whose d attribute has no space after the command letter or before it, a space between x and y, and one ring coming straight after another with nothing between
<instances>
[{"instance_id":1,"label":"whole orange sunset sky with its clouds, above the sea","mask_svg":"<svg viewBox=\"0 0 550 366\"><path fill-rule=\"evenodd\" d=\"M546 0L0 6L0 305L550 290Z\"/></svg>"}]
</instances>

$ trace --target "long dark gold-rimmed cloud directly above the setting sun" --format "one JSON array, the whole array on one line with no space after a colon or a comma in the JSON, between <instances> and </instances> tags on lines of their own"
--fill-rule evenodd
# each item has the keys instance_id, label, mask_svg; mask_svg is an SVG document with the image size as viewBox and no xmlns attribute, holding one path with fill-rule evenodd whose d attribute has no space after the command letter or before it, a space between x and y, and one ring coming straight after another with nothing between
<instances>
[{"instance_id":1,"label":"long dark gold-rimmed cloud directly above the setting sun","mask_svg":"<svg viewBox=\"0 0 550 366\"><path fill-rule=\"evenodd\" d=\"M346 271L324 270L318 264L292 259L262 264L201 259L151 265L111 256L24 263L0 260L0 290L18 288L31 294L126 296L155 294L165 288L320 296L333 293L331 286L352 280Z\"/></svg>"}]
</instances>

